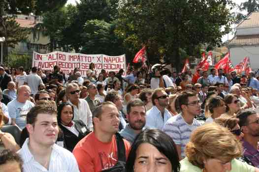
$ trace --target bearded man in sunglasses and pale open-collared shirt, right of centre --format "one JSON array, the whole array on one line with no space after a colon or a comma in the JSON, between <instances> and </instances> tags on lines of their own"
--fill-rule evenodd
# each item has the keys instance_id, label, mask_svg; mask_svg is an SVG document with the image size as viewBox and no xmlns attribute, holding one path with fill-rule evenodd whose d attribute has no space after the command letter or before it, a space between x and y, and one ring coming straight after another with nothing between
<instances>
[{"instance_id":1,"label":"bearded man in sunglasses and pale open-collared shirt, right of centre","mask_svg":"<svg viewBox=\"0 0 259 172\"><path fill-rule=\"evenodd\" d=\"M162 130L165 122L172 116L167 109L168 95L163 88L157 88L152 95L153 107L147 111L146 127Z\"/></svg>"}]
</instances>

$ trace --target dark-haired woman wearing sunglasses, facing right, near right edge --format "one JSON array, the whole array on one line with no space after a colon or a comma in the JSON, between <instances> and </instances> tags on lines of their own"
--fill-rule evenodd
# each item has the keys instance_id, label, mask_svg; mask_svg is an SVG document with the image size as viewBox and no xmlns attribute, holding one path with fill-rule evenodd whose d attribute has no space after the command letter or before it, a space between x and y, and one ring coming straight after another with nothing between
<instances>
[{"instance_id":1,"label":"dark-haired woman wearing sunglasses, facing right, near right edge","mask_svg":"<svg viewBox=\"0 0 259 172\"><path fill-rule=\"evenodd\" d=\"M236 113L240 110L240 102L236 94L227 94L225 97L225 103L227 106L226 114L223 116L235 116Z\"/></svg>"}]
</instances>

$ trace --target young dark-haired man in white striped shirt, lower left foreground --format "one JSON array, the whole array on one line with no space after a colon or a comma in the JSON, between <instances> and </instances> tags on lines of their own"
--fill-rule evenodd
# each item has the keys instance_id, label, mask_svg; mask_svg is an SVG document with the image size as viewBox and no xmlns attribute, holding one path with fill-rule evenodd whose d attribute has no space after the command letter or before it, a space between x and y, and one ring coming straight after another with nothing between
<instances>
[{"instance_id":1,"label":"young dark-haired man in white striped shirt, lower left foreground","mask_svg":"<svg viewBox=\"0 0 259 172\"><path fill-rule=\"evenodd\" d=\"M29 138L18 151L24 172L79 172L71 152L55 144L59 127L51 103L37 105L27 115Z\"/></svg>"}]
</instances>

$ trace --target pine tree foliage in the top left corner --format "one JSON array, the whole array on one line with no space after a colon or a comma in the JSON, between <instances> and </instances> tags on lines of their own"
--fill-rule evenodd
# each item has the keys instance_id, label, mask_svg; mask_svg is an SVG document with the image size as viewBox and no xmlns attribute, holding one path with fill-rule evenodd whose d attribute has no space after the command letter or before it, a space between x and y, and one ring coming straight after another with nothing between
<instances>
[{"instance_id":1,"label":"pine tree foliage in the top left corner","mask_svg":"<svg viewBox=\"0 0 259 172\"><path fill-rule=\"evenodd\" d=\"M7 14L40 15L43 12L55 11L64 6L67 0L0 0L0 37L5 37L4 57L7 57L7 47L14 47L27 38L28 30L21 29L14 18Z\"/></svg>"}]
</instances>

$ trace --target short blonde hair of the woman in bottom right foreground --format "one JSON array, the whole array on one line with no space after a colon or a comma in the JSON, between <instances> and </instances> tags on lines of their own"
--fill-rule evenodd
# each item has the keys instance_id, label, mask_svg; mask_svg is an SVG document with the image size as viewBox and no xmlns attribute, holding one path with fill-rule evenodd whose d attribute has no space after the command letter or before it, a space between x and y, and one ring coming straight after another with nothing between
<instances>
[{"instance_id":1,"label":"short blonde hair of the woman in bottom right foreground","mask_svg":"<svg viewBox=\"0 0 259 172\"><path fill-rule=\"evenodd\" d=\"M229 162L240 157L242 145L227 128L209 123L194 130L185 152L194 166L203 169L204 159L217 158Z\"/></svg>"}]
</instances>

